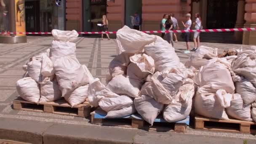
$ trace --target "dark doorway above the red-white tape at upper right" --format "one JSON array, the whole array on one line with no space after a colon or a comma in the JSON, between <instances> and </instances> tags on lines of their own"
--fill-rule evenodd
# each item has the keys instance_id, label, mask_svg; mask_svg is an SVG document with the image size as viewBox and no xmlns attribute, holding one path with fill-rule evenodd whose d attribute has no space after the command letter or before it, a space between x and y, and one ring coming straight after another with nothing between
<instances>
[{"instance_id":1,"label":"dark doorway above the red-white tape at upper right","mask_svg":"<svg viewBox=\"0 0 256 144\"><path fill-rule=\"evenodd\" d=\"M208 0L207 29L234 28L238 0Z\"/></svg>"}]
</instances>

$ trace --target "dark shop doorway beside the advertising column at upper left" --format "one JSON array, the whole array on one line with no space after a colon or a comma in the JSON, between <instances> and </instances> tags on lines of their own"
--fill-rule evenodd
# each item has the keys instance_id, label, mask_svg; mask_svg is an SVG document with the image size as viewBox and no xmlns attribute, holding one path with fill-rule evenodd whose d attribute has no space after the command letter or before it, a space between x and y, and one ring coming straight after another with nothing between
<instances>
[{"instance_id":1,"label":"dark shop doorway beside the advertising column at upper left","mask_svg":"<svg viewBox=\"0 0 256 144\"><path fill-rule=\"evenodd\" d=\"M40 31L40 1L25 2L26 32Z\"/></svg>"}]
</instances>

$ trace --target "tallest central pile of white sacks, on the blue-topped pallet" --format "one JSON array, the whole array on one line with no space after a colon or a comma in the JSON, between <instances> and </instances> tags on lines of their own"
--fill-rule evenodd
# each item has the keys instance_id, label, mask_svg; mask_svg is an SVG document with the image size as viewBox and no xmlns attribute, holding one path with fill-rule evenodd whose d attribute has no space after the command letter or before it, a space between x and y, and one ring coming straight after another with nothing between
<instances>
[{"instance_id":1,"label":"tallest central pile of white sacks, on the blue-topped pallet","mask_svg":"<svg viewBox=\"0 0 256 144\"><path fill-rule=\"evenodd\" d=\"M180 63L174 48L155 35L128 27L117 31L118 56L109 64L107 86L90 83L88 100L107 112L123 117L136 111L149 124L161 112L168 122L186 118L194 96L194 73Z\"/></svg>"}]
</instances>

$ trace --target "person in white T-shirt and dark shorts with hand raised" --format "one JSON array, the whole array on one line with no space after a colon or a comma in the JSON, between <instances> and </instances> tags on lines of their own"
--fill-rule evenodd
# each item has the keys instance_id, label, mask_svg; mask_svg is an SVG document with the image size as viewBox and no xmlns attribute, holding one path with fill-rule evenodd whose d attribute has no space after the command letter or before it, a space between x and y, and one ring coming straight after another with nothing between
<instances>
[{"instance_id":1,"label":"person in white T-shirt and dark shorts with hand raised","mask_svg":"<svg viewBox=\"0 0 256 144\"><path fill-rule=\"evenodd\" d=\"M184 26L184 30L190 30L190 27L192 25L191 14L190 13L186 14L186 20L187 20L186 23L184 23L182 21L182 24ZM186 42L186 45L187 45L187 50L184 51L184 53L190 53L190 51L189 51L189 32L182 33L182 37L184 38L184 40Z\"/></svg>"}]
</instances>

